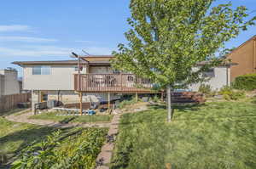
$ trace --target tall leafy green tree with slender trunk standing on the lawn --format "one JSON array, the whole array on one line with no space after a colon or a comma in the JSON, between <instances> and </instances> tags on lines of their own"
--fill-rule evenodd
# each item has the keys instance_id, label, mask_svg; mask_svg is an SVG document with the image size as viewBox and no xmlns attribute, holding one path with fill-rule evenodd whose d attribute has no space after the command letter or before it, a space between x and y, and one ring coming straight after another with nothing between
<instances>
[{"instance_id":1,"label":"tall leafy green tree with slender trunk standing on the lawn","mask_svg":"<svg viewBox=\"0 0 256 169\"><path fill-rule=\"evenodd\" d=\"M128 44L113 52L113 66L166 87L168 121L172 119L171 91L201 82L201 73L221 60L224 42L247 26L247 8L231 3L212 7L215 0L131 0ZM222 50L223 49L223 50ZM196 64L206 65L194 69Z\"/></svg>"}]
</instances>

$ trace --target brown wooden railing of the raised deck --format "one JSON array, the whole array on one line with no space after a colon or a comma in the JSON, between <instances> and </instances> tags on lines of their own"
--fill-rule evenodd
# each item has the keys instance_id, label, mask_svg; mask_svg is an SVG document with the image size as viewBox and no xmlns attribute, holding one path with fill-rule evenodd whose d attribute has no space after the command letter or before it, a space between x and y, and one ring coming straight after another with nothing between
<instances>
[{"instance_id":1,"label":"brown wooden railing of the raised deck","mask_svg":"<svg viewBox=\"0 0 256 169\"><path fill-rule=\"evenodd\" d=\"M75 74L74 89L79 92L148 93L152 82L133 74Z\"/></svg>"}]
</instances>

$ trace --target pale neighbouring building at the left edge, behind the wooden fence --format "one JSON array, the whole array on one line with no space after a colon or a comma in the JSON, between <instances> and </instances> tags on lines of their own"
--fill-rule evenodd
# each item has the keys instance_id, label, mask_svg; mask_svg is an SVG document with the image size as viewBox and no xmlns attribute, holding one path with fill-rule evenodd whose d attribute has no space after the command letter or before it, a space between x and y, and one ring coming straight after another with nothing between
<instances>
[{"instance_id":1,"label":"pale neighbouring building at the left edge, behind the wooden fence","mask_svg":"<svg viewBox=\"0 0 256 169\"><path fill-rule=\"evenodd\" d=\"M12 68L0 70L0 97L16 93L20 93L17 70Z\"/></svg>"}]
</instances>

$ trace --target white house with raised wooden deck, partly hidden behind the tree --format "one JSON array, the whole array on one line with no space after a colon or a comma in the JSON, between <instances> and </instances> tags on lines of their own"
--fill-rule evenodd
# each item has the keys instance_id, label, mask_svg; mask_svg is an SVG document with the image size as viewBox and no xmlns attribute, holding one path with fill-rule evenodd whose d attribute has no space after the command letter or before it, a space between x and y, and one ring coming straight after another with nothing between
<instances>
[{"instance_id":1,"label":"white house with raised wooden deck, partly hidden behind the tree","mask_svg":"<svg viewBox=\"0 0 256 169\"><path fill-rule=\"evenodd\" d=\"M110 65L113 56L86 56L79 60L14 62L23 67L23 89L32 91L32 105L48 99L63 104L119 99L124 93L153 93L148 79L120 73ZM201 63L198 66L201 66ZM212 68L205 76L213 88L230 85L230 65ZM190 90L198 90L195 84ZM80 96L80 97L79 97Z\"/></svg>"}]
</instances>

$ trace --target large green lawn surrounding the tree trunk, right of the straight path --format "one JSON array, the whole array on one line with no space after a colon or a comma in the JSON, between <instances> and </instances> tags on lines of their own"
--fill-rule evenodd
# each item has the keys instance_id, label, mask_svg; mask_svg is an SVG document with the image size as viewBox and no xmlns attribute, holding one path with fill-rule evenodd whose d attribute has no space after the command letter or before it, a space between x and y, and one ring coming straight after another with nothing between
<instances>
[{"instance_id":1,"label":"large green lawn surrounding the tree trunk, right of the straight path","mask_svg":"<svg viewBox=\"0 0 256 169\"><path fill-rule=\"evenodd\" d=\"M111 168L256 168L256 104L213 102L122 115Z\"/></svg>"}]
</instances>

